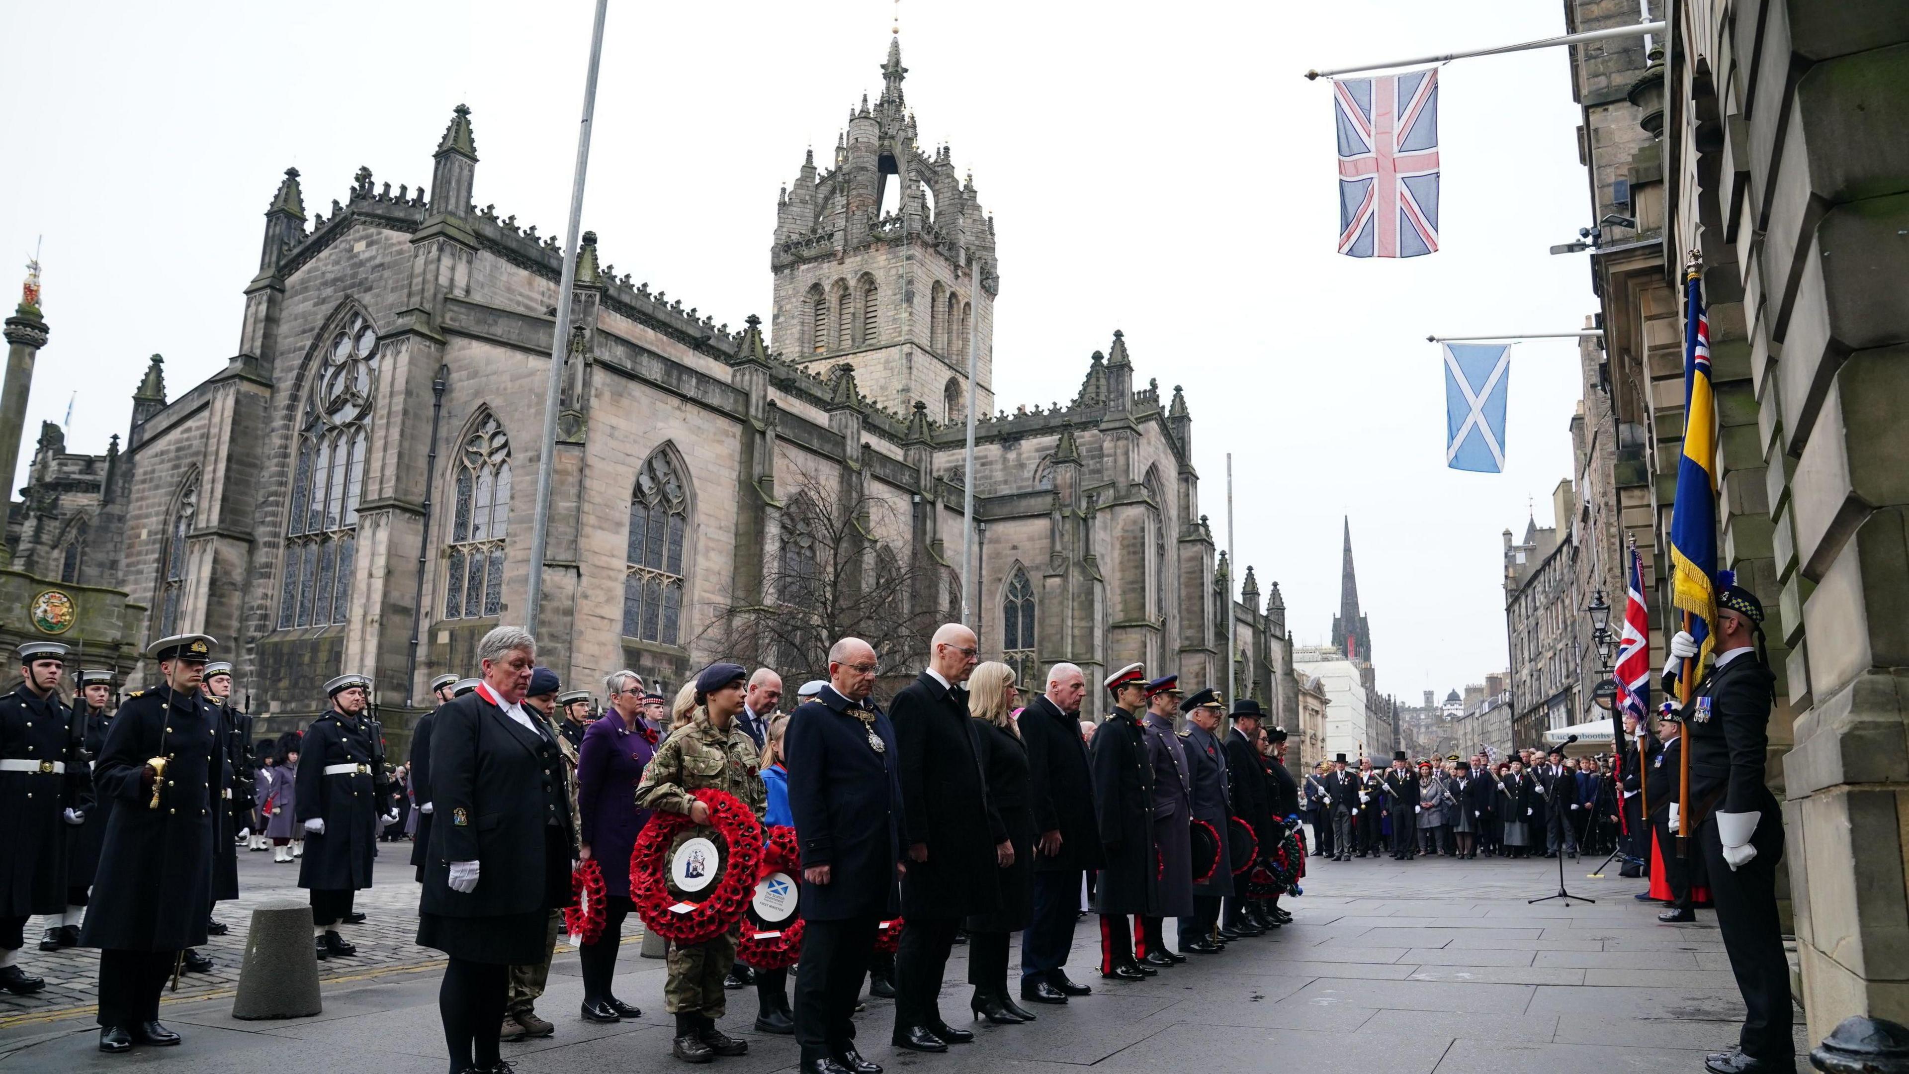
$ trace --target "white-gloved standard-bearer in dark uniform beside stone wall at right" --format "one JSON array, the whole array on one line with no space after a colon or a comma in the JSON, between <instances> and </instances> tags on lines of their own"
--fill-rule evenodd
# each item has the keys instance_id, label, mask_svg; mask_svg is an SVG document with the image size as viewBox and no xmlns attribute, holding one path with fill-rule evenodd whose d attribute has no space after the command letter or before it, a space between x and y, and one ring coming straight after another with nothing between
<instances>
[{"instance_id":1,"label":"white-gloved standard-bearer in dark uniform beside stone wall at right","mask_svg":"<svg viewBox=\"0 0 1909 1074\"><path fill-rule=\"evenodd\" d=\"M1764 774L1775 675L1758 644L1762 623L1764 606L1747 589L1726 585L1716 594L1714 665L1684 705L1691 801L1682 806L1680 827L1703 848L1716 927L1749 1009L1735 1051L1705 1059L1716 1074L1787 1074L1796 1064L1775 891L1783 812ZM1686 655L1697 655L1697 646L1678 633L1672 665ZM1670 694L1670 682L1665 686Z\"/></svg>"}]
</instances>

